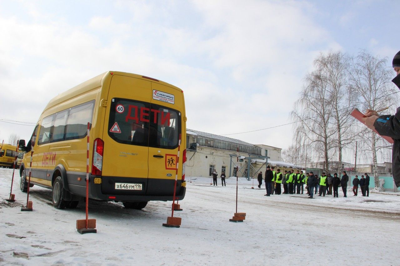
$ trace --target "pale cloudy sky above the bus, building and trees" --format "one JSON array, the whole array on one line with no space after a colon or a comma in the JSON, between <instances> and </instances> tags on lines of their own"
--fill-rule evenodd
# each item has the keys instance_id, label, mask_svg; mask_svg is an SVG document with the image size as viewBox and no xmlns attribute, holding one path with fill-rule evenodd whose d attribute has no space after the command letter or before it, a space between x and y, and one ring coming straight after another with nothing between
<instances>
[{"instance_id":1,"label":"pale cloudy sky above the bus, building and trees","mask_svg":"<svg viewBox=\"0 0 400 266\"><path fill-rule=\"evenodd\" d=\"M29 139L52 97L108 70L180 87L189 129L224 135L289 123L320 52L367 49L391 66L399 7L398 0L1 0L0 120L32 126L0 121L0 141L11 133ZM287 148L292 130L227 137Z\"/></svg>"}]
</instances>

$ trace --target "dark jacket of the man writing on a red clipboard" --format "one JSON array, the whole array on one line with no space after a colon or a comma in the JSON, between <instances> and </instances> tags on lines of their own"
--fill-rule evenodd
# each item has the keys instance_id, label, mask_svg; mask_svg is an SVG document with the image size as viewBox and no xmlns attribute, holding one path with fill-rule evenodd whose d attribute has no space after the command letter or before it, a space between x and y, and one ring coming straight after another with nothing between
<instances>
[{"instance_id":1,"label":"dark jacket of the man writing on a red clipboard","mask_svg":"<svg viewBox=\"0 0 400 266\"><path fill-rule=\"evenodd\" d=\"M396 187L400 187L400 107L394 115L381 115L374 123L380 135L391 137L394 141L392 149L392 175ZM369 184L368 184L369 185Z\"/></svg>"}]
</instances>

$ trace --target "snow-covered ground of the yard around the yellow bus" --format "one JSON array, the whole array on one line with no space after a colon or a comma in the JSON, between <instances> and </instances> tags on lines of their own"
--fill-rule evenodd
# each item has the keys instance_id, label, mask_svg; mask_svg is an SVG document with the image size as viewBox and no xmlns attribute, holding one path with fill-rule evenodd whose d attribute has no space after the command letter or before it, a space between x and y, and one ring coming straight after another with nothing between
<instances>
[{"instance_id":1,"label":"snow-covered ground of the yard around the yellow bus","mask_svg":"<svg viewBox=\"0 0 400 266\"><path fill-rule=\"evenodd\" d=\"M115 202L89 203L96 234L79 234L84 204L73 210L51 206L51 191L34 186L33 212L21 212L26 193L12 169L0 168L1 265L399 265L400 197L273 195L240 179L241 223L235 212L236 179L226 187L209 178L188 177L180 228L162 223L171 202L149 202L143 210ZM220 182L220 179L218 179ZM264 184L263 184L264 185ZM339 192L339 195L342 195Z\"/></svg>"}]
</instances>

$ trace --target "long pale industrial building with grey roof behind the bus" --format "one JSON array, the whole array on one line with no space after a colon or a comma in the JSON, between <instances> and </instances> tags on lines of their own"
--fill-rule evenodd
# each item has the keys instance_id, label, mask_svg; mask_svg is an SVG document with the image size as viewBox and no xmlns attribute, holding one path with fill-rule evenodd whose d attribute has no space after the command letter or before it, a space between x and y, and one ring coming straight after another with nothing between
<instances>
[{"instance_id":1,"label":"long pale industrial building with grey roof behind the bus","mask_svg":"<svg viewBox=\"0 0 400 266\"><path fill-rule=\"evenodd\" d=\"M218 175L224 171L227 177L236 176L236 173L239 177L257 177L260 171L266 170L266 156L268 165L295 168L282 162L282 149L268 145L253 145L192 129L186 130L186 143L186 176L210 177L216 169Z\"/></svg>"}]
</instances>

